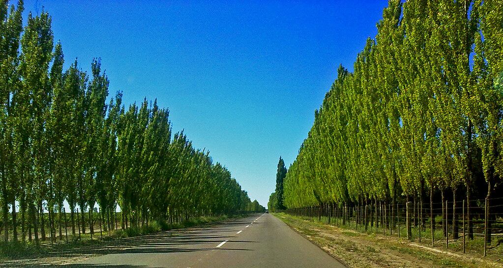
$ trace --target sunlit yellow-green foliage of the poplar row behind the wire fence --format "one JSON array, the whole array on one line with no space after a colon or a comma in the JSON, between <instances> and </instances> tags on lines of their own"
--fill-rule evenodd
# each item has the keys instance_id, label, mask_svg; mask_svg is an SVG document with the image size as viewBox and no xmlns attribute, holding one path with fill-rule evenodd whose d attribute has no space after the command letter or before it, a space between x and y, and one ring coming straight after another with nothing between
<instances>
[{"instance_id":1,"label":"sunlit yellow-green foliage of the poplar row behind the wire fence","mask_svg":"<svg viewBox=\"0 0 503 268\"><path fill-rule=\"evenodd\" d=\"M382 202L394 219L413 201L434 220L449 199L457 238L464 199L473 238L472 201L503 197L503 3L390 0L377 29L315 111L284 205Z\"/></svg>"}]
</instances>

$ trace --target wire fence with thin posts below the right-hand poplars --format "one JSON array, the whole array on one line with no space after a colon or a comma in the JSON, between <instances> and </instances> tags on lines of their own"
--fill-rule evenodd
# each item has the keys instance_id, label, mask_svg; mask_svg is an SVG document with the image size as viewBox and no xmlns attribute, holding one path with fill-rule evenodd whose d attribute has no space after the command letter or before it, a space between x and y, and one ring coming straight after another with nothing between
<instances>
[{"instance_id":1,"label":"wire fence with thin posts below the right-hand poplars","mask_svg":"<svg viewBox=\"0 0 503 268\"><path fill-rule=\"evenodd\" d=\"M407 238L463 253L503 254L503 198L366 205L323 204L289 214L367 233Z\"/></svg>"}]
</instances>

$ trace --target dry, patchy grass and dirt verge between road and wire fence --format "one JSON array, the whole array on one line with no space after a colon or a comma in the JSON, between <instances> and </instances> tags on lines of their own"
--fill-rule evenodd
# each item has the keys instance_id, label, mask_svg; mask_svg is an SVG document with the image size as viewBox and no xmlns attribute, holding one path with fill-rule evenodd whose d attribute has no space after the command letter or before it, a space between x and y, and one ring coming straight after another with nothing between
<instances>
[{"instance_id":1,"label":"dry, patchy grass and dirt verge between road and wire fence","mask_svg":"<svg viewBox=\"0 0 503 268\"><path fill-rule=\"evenodd\" d=\"M483 259L429 248L403 238L342 229L284 213L275 216L350 267L503 267L503 258Z\"/></svg>"}]
</instances>

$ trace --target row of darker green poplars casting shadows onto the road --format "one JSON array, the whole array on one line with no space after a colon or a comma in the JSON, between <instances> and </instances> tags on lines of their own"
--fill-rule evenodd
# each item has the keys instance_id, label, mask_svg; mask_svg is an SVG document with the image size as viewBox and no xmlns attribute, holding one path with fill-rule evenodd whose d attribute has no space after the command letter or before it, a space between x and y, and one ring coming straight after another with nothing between
<instances>
[{"instance_id":1,"label":"row of darker green poplars casting shadows onto the road","mask_svg":"<svg viewBox=\"0 0 503 268\"><path fill-rule=\"evenodd\" d=\"M149 219L178 222L264 210L183 131L172 138L169 111L156 101L126 108L120 92L109 100L100 59L93 59L91 73L76 59L63 70L49 14L30 13L23 27L22 12L22 0L17 7L8 0L0 5L0 203L6 241L21 236L38 244L46 228L52 234L57 226L61 237L65 201L73 235L76 225L86 232L87 216L75 215L76 208L89 212L94 232L95 204L109 227L118 205L126 228Z\"/></svg>"}]
</instances>

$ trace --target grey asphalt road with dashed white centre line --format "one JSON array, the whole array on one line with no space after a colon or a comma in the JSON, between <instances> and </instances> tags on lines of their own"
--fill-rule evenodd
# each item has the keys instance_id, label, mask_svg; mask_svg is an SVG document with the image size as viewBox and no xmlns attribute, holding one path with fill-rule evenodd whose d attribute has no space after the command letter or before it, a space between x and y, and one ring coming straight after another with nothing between
<instances>
[{"instance_id":1,"label":"grey asphalt road with dashed white centre line","mask_svg":"<svg viewBox=\"0 0 503 268\"><path fill-rule=\"evenodd\" d=\"M345 267L271 214L143 236L128 248L75 266Z\"/></svg>"}]
</instances>

